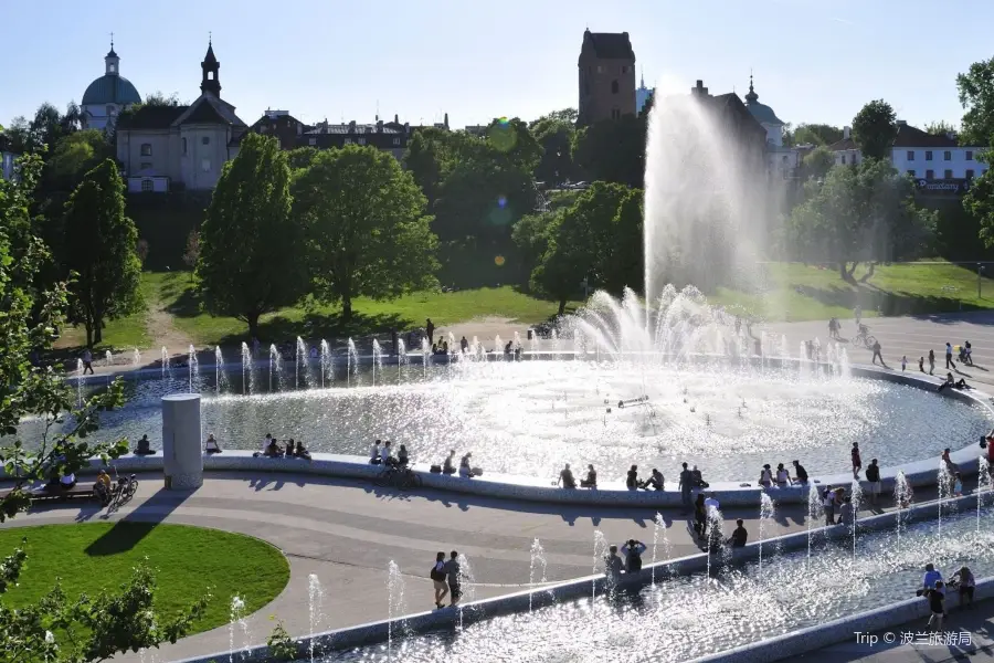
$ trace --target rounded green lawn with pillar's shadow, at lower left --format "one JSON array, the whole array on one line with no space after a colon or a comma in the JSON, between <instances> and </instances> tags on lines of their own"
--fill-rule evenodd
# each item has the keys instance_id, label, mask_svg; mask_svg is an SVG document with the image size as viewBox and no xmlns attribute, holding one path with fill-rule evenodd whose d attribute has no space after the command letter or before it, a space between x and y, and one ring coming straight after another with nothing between
<instances>
[{"instance_id":1,"label":"rounded green lawn with pillar's shadow, at lower left","mask_svg":"<svg viewBox=\"0 0 994 663\"><path fill-rule=\"evenodd\" d=\"M207 614L193 632L231 619L231 598L245 601L246 613L276 598L289 580L289 565L269 544L219 529L151 523L42 525L0 530L0 557L28 538L28 564L4 602L22 606L50 591L55 578L71 599L116 588L147 558L156 571L156 608L178 614L207 592Z\"/></svg>"}]
</instances>

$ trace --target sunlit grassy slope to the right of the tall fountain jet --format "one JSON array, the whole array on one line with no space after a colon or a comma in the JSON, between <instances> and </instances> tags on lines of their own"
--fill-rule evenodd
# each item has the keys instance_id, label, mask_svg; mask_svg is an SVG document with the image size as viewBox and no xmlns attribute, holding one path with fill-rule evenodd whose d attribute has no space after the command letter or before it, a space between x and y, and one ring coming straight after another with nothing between
<instances>
[{"instance_id":1,"label":"sunlit grassy slope to the right of the tall fountain jet","mask_svg":"<svg viewBox=\"0 0 994 663\"><path fill-rule=\"evenodd\" d=\"M878 266L858 287L844 282L837 270L796 263L769 263L763 267L765 283L759 292L718 288L709 301L740 306L771 320L847 317L857 302L866 317L994 308L994 281L983 278L983 297L977 297L976 272L950 263ZM855 277L865 272L857 269Z\"/></svg>"}]
</instances>

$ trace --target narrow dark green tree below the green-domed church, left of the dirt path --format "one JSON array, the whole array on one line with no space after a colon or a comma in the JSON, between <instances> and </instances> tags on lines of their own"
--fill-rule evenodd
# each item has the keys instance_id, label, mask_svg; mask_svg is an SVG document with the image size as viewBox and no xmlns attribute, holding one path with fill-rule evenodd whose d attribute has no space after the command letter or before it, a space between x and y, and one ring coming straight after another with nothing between
<instances>
[{"instance_id":1,"label":"narrow dark green tree below the green-domed church, left of the dirt path","mask_svg":"<svg viewBox=\"0 0 994 663\"><path fill-rule=\"evenodd\" d=\"M141 261L138 230L125 214L124 181L110 159L87 172L65 204L62 262L72 274L70 319L86 329L86 345L103 340L106 320L136 311Z\"/></svg>"}]
</instances>

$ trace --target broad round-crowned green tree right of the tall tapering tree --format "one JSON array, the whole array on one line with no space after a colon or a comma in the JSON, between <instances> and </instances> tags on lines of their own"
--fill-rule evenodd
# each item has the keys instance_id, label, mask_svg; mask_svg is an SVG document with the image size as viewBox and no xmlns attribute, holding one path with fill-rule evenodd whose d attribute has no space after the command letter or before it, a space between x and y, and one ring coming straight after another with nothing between
<instances>
[{"instance_id":1,"label":"broad round-crowned green tree right of the tall tapering tree","mask_svg":"<svg viewBox=\"0 0 994 663\"><path fill-rule=\"evenodd\" d=\"M396 297L437 285L425 198L410 172L374 148L319 152L294 179L295 219L306 228L307 261L318 298L341 303Z\"/></svg>"}]
</instances>

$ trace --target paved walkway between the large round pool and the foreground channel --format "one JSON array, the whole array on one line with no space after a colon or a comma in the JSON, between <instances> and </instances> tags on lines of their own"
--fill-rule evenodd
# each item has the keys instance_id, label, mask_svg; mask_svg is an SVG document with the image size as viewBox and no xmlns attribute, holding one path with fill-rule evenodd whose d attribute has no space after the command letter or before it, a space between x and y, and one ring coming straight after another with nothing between
<instances>
[{"instance_id":1,"label":"paved walkway between the large round pool and the foreground channel","mask_svg":"<svg viewBox=\"0 0 994 663\"><path fill-rule=\"evenodd\" d=\"M285 621L292 635L310 631L310 573L318 576L325 592L324 615L316 628L342 628L387 618L385 569L391 560L406 580L408 611L420 612L433 606L426 576L437 550L464 552L475 579L469 598L488 598L525 588L535 538L541 539L546 550L547 579L565 580L592 571L595 530L609 541L637 538L652 545L655 517L654 509L540 505L432 491L398 494L347 480L290 474L213 473L192 493L167 492L161 485L158 475L142 476L130 505L112 515L95 505L52 505L0 527L136 519L215 527L266 539L289 559L290 580L273 603L248 619L250 639L261 643L274 625L272 614ZM757 509L728 509L725 515L731 522L744 518L750 536L758 536ZM678 511L670 509L663 518L675 556L699 551ZM768 536L805 527L805 507L784 506ZM731 527L727 525L726 530ZM649 557L651 552L646 561ZM228 649L229 631L222 627L163 645L155 660ZM146 656L145 663L151 661Z\"/></svg>"}]
</instances>

